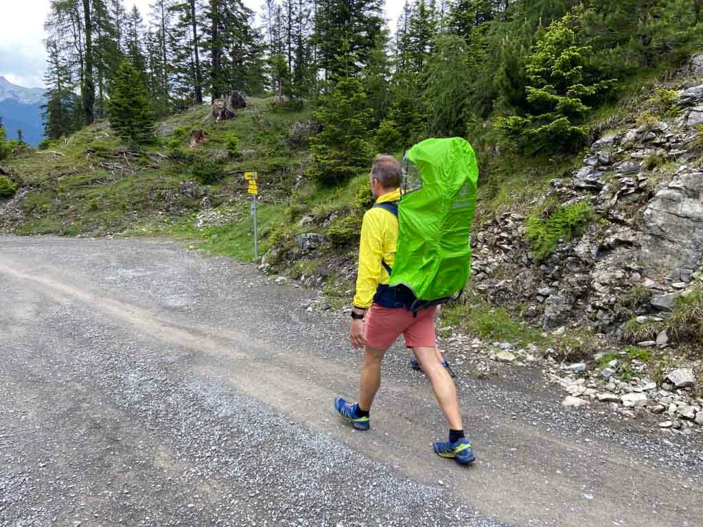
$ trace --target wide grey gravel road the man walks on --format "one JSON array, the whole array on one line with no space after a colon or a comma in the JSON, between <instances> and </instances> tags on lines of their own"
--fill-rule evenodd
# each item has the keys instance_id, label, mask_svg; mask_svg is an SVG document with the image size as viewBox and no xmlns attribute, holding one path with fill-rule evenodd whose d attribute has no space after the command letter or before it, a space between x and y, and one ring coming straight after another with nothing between
<instances>
[{"instance_id":1,"label":"wide grey gravel road the man walks on","mask_svg":"<svg viewBox=\"0 0 703 527\"><path fill-rule=\"evenodd\" d=\"M703 434L458 388L478 461L396 348L368 433L347 319L174 242L0 237L0 526L701 526Z\"/></svg>"}]
</instances>

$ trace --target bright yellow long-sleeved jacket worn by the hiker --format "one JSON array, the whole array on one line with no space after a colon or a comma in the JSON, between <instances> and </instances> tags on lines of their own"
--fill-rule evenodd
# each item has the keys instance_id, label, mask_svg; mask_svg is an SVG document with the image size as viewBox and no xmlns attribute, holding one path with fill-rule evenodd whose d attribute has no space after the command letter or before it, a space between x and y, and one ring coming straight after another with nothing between
<instances>
[{"instance_id":1,"label":"bright yellow long-sleeved jacket worn by the hiker","mask_svg":"<svg viewBox=\"0 0 703 527\"><path fill-rule=\"evenodd\" d=\"M400 200L400 189L384 194L376 203ZM387 284L389 275L382 261L393 267L398 239L398 219L394 214L373 207L363 215L359 242L359 274L356 276L354 306L368 308L379 284Z\"/></svg>"}]
</instances>

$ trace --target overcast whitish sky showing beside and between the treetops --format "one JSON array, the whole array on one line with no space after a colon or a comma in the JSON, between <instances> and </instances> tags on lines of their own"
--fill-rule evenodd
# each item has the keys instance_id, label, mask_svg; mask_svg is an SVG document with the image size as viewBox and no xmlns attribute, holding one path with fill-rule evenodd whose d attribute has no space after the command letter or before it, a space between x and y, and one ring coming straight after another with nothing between
<instances>
[{"instance_id":1,"label":"overcast whitish sky showing beside and between the treetops","mask_svg":"<svg viewBox=\"0 0 703 527\"><path fill-rule=\"evenodd\" d=\"M146 20L153 0L125 0L127 8L136 4ZM263 0L244 0L259 11ZM49 0L0 0L0 76L27 88L44 86L44 20ZM405 0L386 0L386 18L394 27ZM257 16L257 23L260 23Z\"/></svg>"}]
</instances>

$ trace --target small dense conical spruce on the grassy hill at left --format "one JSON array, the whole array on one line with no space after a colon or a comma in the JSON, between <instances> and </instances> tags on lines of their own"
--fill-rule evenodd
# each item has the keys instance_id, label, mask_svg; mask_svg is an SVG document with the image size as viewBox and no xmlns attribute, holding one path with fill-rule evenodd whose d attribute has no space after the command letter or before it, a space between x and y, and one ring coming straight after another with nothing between
<instances>
[{"instance_id":1,"label":"small dense conical spruce on the grassy hill at left","mask_svg":"<svg viewBox=\"0 0 703 527\"><path fill-rule=\"evenodd\" d=\"M146 86L134 65L124 60L110 84L108 103L110 126L117 136L136 145L154 139L154 117L149 108Z\"/></svg>"}]
</instances>

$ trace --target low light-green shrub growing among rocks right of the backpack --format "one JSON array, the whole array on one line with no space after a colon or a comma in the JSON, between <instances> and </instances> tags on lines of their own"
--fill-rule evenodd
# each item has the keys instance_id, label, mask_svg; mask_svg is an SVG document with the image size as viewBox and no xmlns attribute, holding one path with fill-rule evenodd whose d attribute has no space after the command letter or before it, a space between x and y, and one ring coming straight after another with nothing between
<instances>
[{"instance_id":1,"label":"low light-green shrub growing among rocks right of the backpack","mask_svg":"<svg viewBox=\"0 0 703 527\"><path fill-rule=\"evenodd\" d=\"M525 224L532 256L542 261L552 254L560 242L569 242L581 235L583 228L593 221L593 206L588 200L558 207L546 219L531 214Z\"/></svg>"}]
</instances>

